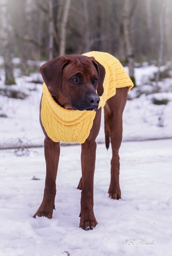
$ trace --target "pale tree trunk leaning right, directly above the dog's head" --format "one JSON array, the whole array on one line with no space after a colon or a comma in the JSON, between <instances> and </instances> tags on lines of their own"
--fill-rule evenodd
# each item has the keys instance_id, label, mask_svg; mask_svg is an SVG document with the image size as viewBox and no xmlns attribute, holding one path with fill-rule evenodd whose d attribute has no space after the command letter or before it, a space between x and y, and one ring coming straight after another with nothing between
<instances>
[{"instance_id":1,"label":"pale tree trunk leaning right, directly above the dog's head","mask_svg":"<svg viewBox=\"0 0 172 256\"><path fill-rule=\"evenodd\" d=\"M61 36L60 36L60 49L59 54L65 55L65 49L66 49L66 24L68 20L69 15L69 8L70 8L71 0L66 0L65 6L64 6L64 15L62 18L61 23Z\"/></svg>"}]
</instances>

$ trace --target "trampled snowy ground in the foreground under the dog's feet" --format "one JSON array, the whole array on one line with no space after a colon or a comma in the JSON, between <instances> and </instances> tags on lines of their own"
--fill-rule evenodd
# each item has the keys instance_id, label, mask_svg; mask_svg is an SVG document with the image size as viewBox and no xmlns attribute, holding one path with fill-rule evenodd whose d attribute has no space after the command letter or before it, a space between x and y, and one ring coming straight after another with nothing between
<instances>
[{"instance_id":1,"label":"trampled snowy ground in the foreground under the dog's feet","mask_svg":"<svg viewBox=\"0 0 172 256\"><path fill-rule=\"evenodd\" d=\"M97 146L94 176L95 229L79 228L80 146L61 147L56 211L32 218L41 204L43 148L17 157L0 151L1 256L172 255L172 140L123 142L121 200L108 198L111 150ZM40 180L32 180L36 176ZM152 245L146 245L152 243ZM68 253L69 254L68 254Z\"/></svg>"}]
</instances>

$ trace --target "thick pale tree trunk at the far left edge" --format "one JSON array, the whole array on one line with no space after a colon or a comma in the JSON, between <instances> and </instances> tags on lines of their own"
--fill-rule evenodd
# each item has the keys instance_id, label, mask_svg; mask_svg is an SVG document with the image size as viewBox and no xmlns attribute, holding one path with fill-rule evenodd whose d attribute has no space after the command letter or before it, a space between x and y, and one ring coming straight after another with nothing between
<instances>
[{"instance_id":1,"label":"thick pale tree trunk at the far left edge","mask_svg":"<svg viewBox=\"0 0 172 256\"><path fill-rule=\"evenodd\" d=\"M10 23L10 13L8 12L8 2L7 0L1 0L1 38L2 38L2 48L4 57L4 69L5 69L5 84L11 85L16 84L13 75L13 65L12 65L12 28Z\"/></svg>"}]
</instances>

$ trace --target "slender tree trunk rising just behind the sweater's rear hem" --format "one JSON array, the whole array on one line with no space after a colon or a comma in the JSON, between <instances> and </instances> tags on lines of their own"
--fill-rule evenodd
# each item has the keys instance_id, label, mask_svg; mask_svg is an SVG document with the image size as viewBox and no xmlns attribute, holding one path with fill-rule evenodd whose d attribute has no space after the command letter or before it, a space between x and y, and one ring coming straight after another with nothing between
<instances>
[{"instance_id":1,"label":"slender tree trunk rising just behind the sweater's rear hem","mask_svg":"<svg viewBox=\"0 0 172 256\"><path fill-rule=\"evenodd\" d=\"M135 78L134 78L134 53L133 47L131 43L131 31L130 31L130 18L131 18L131 1L124 0L123 5L123 37L124 37L124 44L125 44L125 55L126 60L128 63L129 68L129 76L135 85Z\"/></svg>"}]
</instances>

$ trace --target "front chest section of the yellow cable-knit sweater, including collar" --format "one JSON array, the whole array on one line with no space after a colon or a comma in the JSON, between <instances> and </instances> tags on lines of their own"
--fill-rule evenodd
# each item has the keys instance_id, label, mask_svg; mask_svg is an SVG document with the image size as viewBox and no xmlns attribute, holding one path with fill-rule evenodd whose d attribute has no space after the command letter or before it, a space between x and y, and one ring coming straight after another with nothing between
<instances>
[{"instance_id":1,"label":"front chest section of the yellow cable-knit sweater, including collar","mask_svg":"<svg viewBox=\"0 0 172 256\"><path fill-rule=\"evenodd\" d=\"M47 86L43 85L41 121L51 140L84 143L93 126L95 113L60 107L48 92Z\"/></svg>"}]
</instances>

